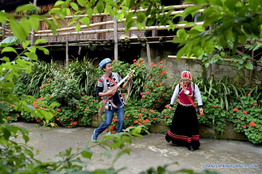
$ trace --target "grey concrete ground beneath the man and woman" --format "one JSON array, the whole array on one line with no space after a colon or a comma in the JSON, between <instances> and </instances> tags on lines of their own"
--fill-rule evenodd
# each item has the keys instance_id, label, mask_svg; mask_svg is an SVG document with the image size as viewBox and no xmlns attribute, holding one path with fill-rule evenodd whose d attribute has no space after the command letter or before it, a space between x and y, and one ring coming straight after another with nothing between
<instances>
[{"instance_id":1,"label":"grey concrete ground beneath the man and woman","mask_svg":"<svg viewBox=\"0 0 262 174\"><path fill-rule=\"evenodd\" d=\"M46 129L41 126L35 127L33 123L16 122L12 125L30 129L29 146L35 150L41 150L36 156L41 161L58 161L55 157L60 151L72 147L76 152L78 147L85 145L91 140L95 128L77 127L66 129L63 127ZM43 138L38 132L43 134ZM98 137L98 139L101 136ZM22 138L16 141L22 142ZM178 147L172 143L166 143L165 135L145 135L143 139L134 139L132 144L126 144L124 148L131 149L130 155L124 154L115 163L115 169L126 169L120 173L140 173L150 167L172 164L168 170L175 171L182 168L192 169L195 172L203 172L203 164L258 164L258 168L208 168L218 173L262 173L262 145L255 145L250 142L232 140L200 139L201 147L193 152L186 147ZM92 148L93 156L90 160L88 170L97 168L108 168L112 159L100 156L104 149L96 146ZM112 150L115 155L119 150ZM89 161L88 159L84 159Z\"/></svg>"}]
</instances>

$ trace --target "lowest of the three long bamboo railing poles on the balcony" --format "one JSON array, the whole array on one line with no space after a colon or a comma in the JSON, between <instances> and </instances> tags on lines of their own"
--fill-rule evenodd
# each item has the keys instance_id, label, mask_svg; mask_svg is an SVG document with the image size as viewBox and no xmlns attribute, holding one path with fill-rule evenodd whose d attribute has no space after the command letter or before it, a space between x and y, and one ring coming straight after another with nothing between
<instances>
[{"instance_id":1,"label":"lowest of the three long bamboo railing poles on the balcony","mask_svg":"<svg viewBox=\"0 0 262 174\"><path fill-rule=\"evenodd\" d=\"M197 22L196 25L203 25L204 22ZM195 24L187 25L186 24L177 24L176 29L179 28L191 28L196 26ZM151 27L146 27L145 29L143 28L142 30L166 30L169 27L169 25L166 26L151 26ZM118 28L117 31L123 31L125 32L125 28ZM139 31L137 27L131 27L128 31ZM35 34L36 37L39 36L72 36L72 35L81 35L81 34L96 34L96 33L110 33L114 32L114 29L101 29L101 30L89 30L89 31L79 31L79 32L66 32L66 33L50 33L50 34Z\"/></svg>"}]
</instances>

